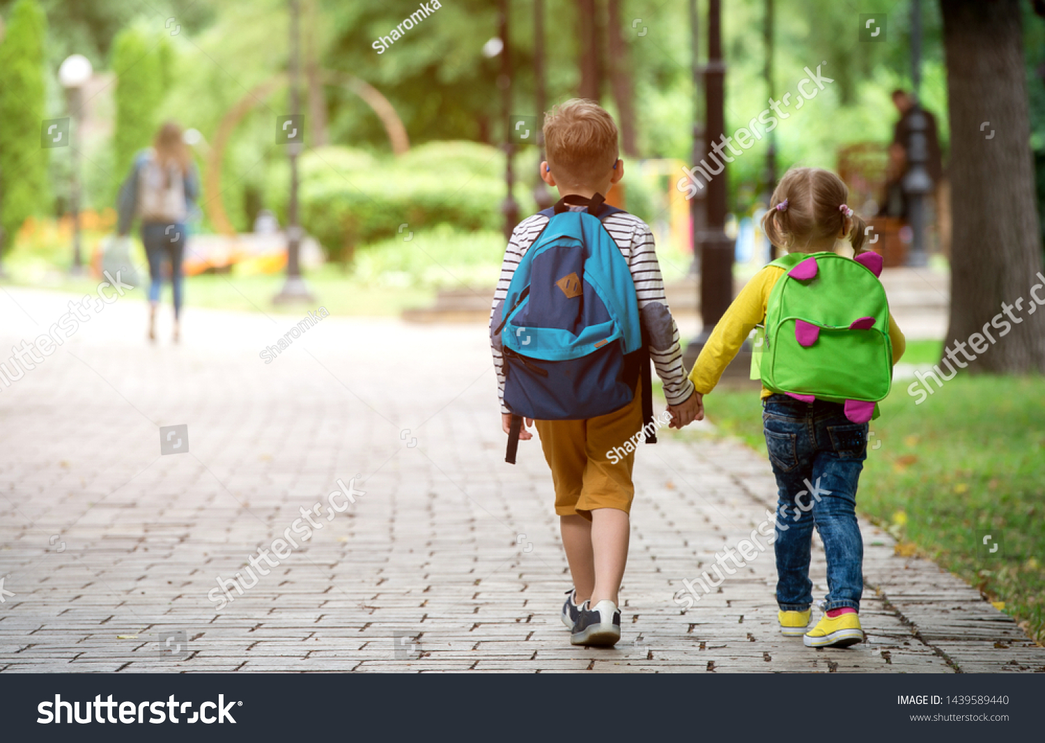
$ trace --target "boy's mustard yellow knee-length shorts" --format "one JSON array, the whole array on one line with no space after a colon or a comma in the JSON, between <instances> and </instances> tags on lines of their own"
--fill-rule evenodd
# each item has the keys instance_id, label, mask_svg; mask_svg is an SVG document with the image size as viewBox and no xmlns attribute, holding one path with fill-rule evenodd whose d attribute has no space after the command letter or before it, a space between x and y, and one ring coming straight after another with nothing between
<instances>
[{"instance_id":1,"label":"boy's mustard yellow knee-length shorts","mask_svg":"<svg viewBox=\"0 0 1045 743\"><path fill-rule=\"evenodd\" d=\"M631 512L635 455L624 449L625 442L643 427L641 395L598 418L538 420L535 424L544 460L552 468L557 514L591 520L590 512L597 508Z\"/></svg>"}]
</instances>

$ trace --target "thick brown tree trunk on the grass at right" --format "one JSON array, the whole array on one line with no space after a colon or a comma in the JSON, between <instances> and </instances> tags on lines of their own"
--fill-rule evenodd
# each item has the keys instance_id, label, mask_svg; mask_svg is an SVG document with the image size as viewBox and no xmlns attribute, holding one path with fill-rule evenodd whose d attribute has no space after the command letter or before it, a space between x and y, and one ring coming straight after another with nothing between
<instances>
[{"instance_id":1,"label":"thick brown tree trunk on the grass at right","mask_svg":"<svg viewBox=\"0 0 1045 743\"><path fill-rule=\"evenodd\" d=\"M970 371L1045 371L1045 306L1030 294L1043 269L1019 2L940 0L940 8L954 215L947 346L985 335L986 325L997 343L969 350Z\"/></svg>"}]
</instances>

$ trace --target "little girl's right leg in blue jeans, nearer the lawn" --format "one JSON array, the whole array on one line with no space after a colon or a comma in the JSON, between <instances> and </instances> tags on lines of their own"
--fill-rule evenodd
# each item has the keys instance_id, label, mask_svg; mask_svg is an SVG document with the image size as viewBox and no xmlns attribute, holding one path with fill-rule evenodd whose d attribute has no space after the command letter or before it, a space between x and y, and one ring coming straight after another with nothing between
<instances>
[{"instance_id":1,"label":"little girl's right leg in blue jeans, nearer the lawn","mask_svg":"<svg viewBox=\"0 0 1045 743\"><path fill-rule=\"evenodd\" d=\"M818 497L813 517L828 561L825 610L860 610L863 595L863 537L856 518L856 490L867 457L867 424L843 416L817 425L820 452L811 480Z\"/></svg>"}]
</instances>

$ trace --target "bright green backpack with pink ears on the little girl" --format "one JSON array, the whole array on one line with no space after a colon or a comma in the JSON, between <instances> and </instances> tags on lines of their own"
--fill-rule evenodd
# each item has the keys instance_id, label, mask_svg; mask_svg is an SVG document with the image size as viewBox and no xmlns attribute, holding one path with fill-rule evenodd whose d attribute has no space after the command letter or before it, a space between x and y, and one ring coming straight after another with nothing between
<instances>
[{"instance_id":1,"label":"bright green backpack with pink ears on the little girl","mask_svg":"<svg viewBox=\"0 0 1045 743\"><path fill-rule=\"evenodd\" d=\"M769 265L787 273L769 295L751 378L804 402L844 403L854 423L877 417L892 386L882 256L791 253Z\"/></svg>"}]
</instances>

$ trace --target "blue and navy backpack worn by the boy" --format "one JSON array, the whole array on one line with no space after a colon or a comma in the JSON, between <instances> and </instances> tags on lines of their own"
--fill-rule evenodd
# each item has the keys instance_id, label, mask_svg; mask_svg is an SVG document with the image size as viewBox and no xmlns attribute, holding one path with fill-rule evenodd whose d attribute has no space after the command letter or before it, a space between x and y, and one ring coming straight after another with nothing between
<instances>
[{"instance_id":1,"label":"blue and navy backpack worn by the boy","mask_svg":"<svg viewBox=\"0 0 1045 743\"><path fill-rule=\"evenodd\" d=\"M642 375L643 424L653 418L650 359L627 261L602 220L622 209L565 198L522 256L491 321L512 413L505 461L514 464L522 418L583 420L634 399ZM585 204L585 202L587 202ZM647 428L652 431L653 426ZM656 441L648 434L647 443Z\"/></svg>"}]
</instances>

